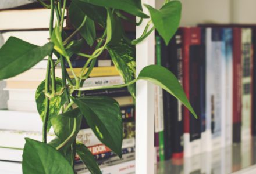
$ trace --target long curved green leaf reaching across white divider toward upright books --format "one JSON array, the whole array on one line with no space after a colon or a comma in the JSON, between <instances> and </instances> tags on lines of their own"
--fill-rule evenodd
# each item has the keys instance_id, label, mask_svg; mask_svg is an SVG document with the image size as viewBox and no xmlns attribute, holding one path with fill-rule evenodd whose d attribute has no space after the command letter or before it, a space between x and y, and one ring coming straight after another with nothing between
<instances>
[{"instance_id":1,"label":"long curved green leaf reaching across white divider toward upright books","mask_svg":"<svg viewBox=\"0 0 256 174\"><path fill-rule=\"evenodd\" d=\"M195 114L189 100L187 100L187 96L184 93L182 86L175 75L173 75L168 69L158 65L150 65L140 71L137 79L144 79L161 86L161 88L165 89L171 95L175 96L176 99L180 100L180 102L189 109L194 117L197 118L197 114Z\"/></svg>"}]
</instances>

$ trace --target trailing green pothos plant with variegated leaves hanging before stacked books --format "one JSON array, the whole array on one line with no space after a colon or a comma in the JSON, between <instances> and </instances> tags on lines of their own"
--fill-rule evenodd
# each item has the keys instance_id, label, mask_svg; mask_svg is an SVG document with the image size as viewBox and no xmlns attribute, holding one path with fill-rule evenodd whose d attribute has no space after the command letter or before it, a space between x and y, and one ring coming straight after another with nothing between
<instances>
[{"instance_id":1,"label":"trailing green pothos plant with variegated leaves hanging before stacked books","mask_svg":"<svg viewBox=\"0 0 256 174\"><path fill-rule=\"evenodd\" d=\"M51 9L49 42L44 46L37 46L10 37L0 49L0 79L23 73L44 57L48 57L45 80L38 86L35 96L37 110L43 122L42 142L26 139L22 162L23 173L74 173L76 154L91 173L101 173L88 148L76 142L82 117L86 119L98 139L122 157L123 128L118 102L110 97L81 96L81 92L86 90L127 86L131 96L135 97L134 83L138 80L146 80L161 86L175 96L197 117L182 86L169 70L150 65L143 68L138 77L135 75L134 45L143 41L154 29L167 45L179 26L182 9L179 1L166 0L159 10L144 5L150 14L148 16L143 12L140 0L72 0L68 17L76 30L70 35L63 30L66 0L51 0L48 3L38 1L45 8ZM133 23L123 15L122 11L139 17L140 21ZM56 24L54 24L54 16ZM129 40L121 20L140 25L141 21L147 18L150 20L141 37ZM104 30L99 38L95 34L95 24ZM82 39L73 39L77 33ZM91 48L94 48L91 55L80 52L85 46L84 42L89 46L96 45ZM84 88L84 81L90 78L97 57L104 50L108 51L125 84ZM52 55L58 57L56 62L52 59ZM70 62L70 57L73 55L79 55L87 60L80 73L74 71ZM65 63L69 65L72 78L67 73ZM61 64L62 78L55 77L56 64ZM74 91L78 93L76 97L72 96ZM51 126L56 138L47 142L47 133Z\"/></svg>"}]
</instances>

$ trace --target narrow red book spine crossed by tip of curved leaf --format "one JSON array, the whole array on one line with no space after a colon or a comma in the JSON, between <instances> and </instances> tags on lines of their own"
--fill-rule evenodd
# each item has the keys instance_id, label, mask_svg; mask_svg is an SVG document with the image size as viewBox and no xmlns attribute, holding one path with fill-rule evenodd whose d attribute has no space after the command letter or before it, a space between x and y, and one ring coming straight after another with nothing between
<instances>
[{"instance_id":1,"label":"narrow red book spine crossed by tip of curved leaf","mask_svg":"<svg viewBox=\"0 0 256 174\"><path fill-rule=\"evenodd\" d=\"M189 47L190 47L190 28L182 28L183 30L183 89L189 99ZM189 110L183 107L184 116L184 133L189 133Z\"/></svg>"}]
</instances>

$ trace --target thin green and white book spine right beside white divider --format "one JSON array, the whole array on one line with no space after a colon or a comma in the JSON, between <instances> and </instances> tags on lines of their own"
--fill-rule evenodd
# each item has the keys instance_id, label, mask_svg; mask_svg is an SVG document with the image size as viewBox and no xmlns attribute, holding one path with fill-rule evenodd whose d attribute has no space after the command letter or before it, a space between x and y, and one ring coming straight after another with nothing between
<instances>
[{"instance_id":1,"label":"thin green and white book spine right beside white divider","mask_svg":"<svg viewBox=\"0 0 256 174\"><path fill-rule=\"evenodd\" d=\"M161 65L161 38L156 37L156 60L157 64ZM158 106L157 110L155 112L158 115L158 119L156 120L156 125L155 125L155 132L158 133L158 148L159 148L159 161L164 161L165 160L165 154L164 154L164 136L163 136L163 131L164 131L164 121L163 121L163 90L159 86L155 86L156 88L156 105Z\"/></svg>"}]
</instances>

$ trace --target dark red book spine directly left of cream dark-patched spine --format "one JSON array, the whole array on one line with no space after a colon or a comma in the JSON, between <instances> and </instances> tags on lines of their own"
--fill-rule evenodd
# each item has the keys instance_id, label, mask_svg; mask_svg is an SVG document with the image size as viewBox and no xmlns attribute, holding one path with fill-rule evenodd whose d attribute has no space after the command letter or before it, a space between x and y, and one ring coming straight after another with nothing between
<instances>
[{"instance_id":1,"label":"dark red book spine directly left of cream dark-patched spine","mask_svg":"<svg viewBox=\"0 0 256 174\"><path fill-rule=\"evenodd\" d=\"M233 29L233 143L241 142L241 28Z\"/></svg>"}]
</instances>

